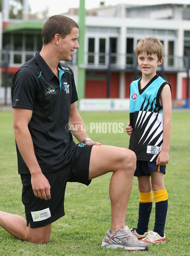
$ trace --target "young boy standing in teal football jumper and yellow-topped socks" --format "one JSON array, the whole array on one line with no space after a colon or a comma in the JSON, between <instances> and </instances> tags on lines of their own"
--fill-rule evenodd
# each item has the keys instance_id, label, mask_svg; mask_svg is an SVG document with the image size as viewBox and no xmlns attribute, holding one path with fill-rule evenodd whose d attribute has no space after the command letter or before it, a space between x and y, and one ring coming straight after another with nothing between
<instances>
[{"instance_id":1,"label":"young boy standing in teal football jumper and yellow-topped socks","mask_svg":"<svg viewBox=\"0 0 190 256\"><path fill-rule=\"evenodd\" d=\"M166 241L164 226L168 210L168 194L164 185L171 137L171 85L156 74L163 61L163 45L155 37L139 41L136 57L142 78L130 85L130 122L126 132L129 149L136 153L134 176L140 192L137 228L131 232L148 244ZM148 232L152 209L152 190L155 197L155 226Z\"/></svg>"}]
</instances>

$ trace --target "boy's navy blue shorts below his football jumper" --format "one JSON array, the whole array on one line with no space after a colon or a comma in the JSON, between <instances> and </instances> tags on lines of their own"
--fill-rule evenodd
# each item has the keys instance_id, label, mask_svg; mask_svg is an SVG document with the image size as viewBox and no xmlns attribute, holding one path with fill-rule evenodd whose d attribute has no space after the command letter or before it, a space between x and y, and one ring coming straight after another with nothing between
<instances>
[{"instance_id":1,"label":"boy's navy blue shorts below his football jumper","mask_svg":"<svg viewBox=\"0 0 190 256\"><path fill-rule=\"evenodd\" d=\"M134 176L147 176L150 175L152 171L160 171L164 174L166 173L166 165L156 165L156 162L148 161L136 161L136 170Z\"/></svg>"}]
</instances>

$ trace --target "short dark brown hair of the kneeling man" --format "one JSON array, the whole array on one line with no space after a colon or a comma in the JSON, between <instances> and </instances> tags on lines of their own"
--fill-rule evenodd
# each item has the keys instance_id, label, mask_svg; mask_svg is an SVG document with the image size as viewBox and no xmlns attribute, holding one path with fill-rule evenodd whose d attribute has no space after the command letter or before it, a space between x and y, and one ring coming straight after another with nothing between
<instances>
[{"instance_id":1,"label":"short dark brown hair of the kneeling man","mask_svg":"<svg viewBox=\"0 0 190 256\"><path fill-rule=\"evenodd\" d=\"M54 15L49 17L41 31L43 45L50 43L55 34L60 34L64 39L71 33L73 27L79 28L79 25L69 17L63 15Z\"/></svg>"}]
</instances>

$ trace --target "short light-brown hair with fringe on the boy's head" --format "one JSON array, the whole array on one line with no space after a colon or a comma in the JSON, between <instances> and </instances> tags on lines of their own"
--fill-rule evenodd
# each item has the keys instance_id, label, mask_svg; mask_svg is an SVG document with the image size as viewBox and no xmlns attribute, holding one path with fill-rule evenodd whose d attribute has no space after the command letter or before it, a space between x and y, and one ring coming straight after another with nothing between
<instances>
[{"instance_id":1,"label":"short light-brown hair with fringe on the boy's head","mask_svg":"<svg viewBox=\"0 0 190 256\"><path fill-rule=\"evenodd\" d=\"M164 47L160 40L155 37L146 37L138 42L136 46L136 58L141 52L146 52L147 54L154 53L158 56L158 61L160 61L164 55Z\"/></svg>"}]
</instances>

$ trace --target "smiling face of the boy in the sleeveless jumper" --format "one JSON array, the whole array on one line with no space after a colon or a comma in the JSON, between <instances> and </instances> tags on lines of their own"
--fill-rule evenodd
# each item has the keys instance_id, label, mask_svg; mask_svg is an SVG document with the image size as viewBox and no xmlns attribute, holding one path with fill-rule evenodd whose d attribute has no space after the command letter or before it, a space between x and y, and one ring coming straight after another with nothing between
<instances>
[{"instance_id":1,"label":"smiling face of the boy in the sleeveless jumper","mask_svg":"<svg viewBox=\"0 0 190 256\"><path fill-rule=\"evenodd\" d=\"M141 52L138 56L138 65L142 75L154 77L156 74L157 66L162 64L163 57L158 60L158 56L154 53L147 54L145 51Z\"/></svg>"}]
</instances>

